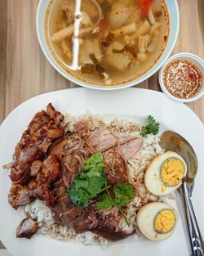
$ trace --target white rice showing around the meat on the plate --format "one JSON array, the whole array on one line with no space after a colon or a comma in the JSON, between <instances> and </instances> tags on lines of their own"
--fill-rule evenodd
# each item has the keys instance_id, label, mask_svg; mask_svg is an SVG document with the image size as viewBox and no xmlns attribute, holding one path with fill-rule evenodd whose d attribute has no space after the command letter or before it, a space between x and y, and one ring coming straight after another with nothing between
<instances>
[{"instance_id":1,"label":"white rice showing around the meat on the plate","mask_svg":"<svg viewBox=\"0 0 204 256\"><path fill-rule=\"evenodd\" d=\"M89 128L91 130L96 127L105 124L104 119L98 115L82 115L78 119L86 119L89 121ZM67 131L73 131L73 124L77 121L72 115L66 115L65 123ZM130 120L124 119L113 119L110 122L109 127L116 134L134 134L140 137L140 125L135 124ZM148 135L144 138L144 143L142 150L136 153L131 159L128 160L128 168L130 170L130 177L132 181L136 181L138 178L144 177L144 171L148 167L150 161L157 155L162 154L162 148L159 145L160 136L159 135ZM136 211L140 209L142 201L157 201L160 200L155 195L152 195L147 191L144 183L140 183L140 195L136 195L134 200L127 205L126 218L130 222L130 226L126 225L124 219L121 219L120 227L122 230L131 233L137 230L136 227ZM64 227L62 225L56 224L52 218L51 210L42 202L41 200L35 200L33 203L28 204L24 207L24 212L28 214L31 218L37 219L38 222L38 234L51 236L57 240L68 241L68 240L78 240L84 245L109 245L109 241L105 240L100 236L96 236L91 232L85 232L83 234L76 234L69 227ZM134 236L137 236L136 234Z\"/></svg>"}]
</instances>

